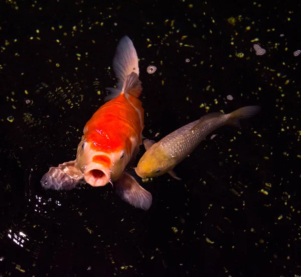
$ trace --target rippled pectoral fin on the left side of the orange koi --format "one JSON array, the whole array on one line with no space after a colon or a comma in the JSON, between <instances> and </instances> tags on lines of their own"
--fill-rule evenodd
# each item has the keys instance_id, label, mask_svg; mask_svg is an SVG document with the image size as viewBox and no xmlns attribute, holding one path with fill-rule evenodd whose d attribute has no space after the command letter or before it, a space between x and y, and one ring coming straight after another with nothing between
<instances>
[{"instance_id":1,"label":"rippled pectoral fin on the left side of the orange koi","mask_svg":"<svg viewBox=\"0 0 301 277\"><path fill-rule=\"evenodd\" d=\"M82 183L83 173L77 168L76 160L64 162L57 167L50 167L41 179L42 187L46 190L78 189Z\"/></svg>"}]
</instances>

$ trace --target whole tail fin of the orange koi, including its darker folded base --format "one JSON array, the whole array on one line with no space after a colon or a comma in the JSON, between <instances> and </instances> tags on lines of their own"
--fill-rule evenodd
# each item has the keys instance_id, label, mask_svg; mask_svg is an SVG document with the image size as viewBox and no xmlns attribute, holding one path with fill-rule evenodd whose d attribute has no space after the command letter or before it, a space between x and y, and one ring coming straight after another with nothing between
<instances>
[{"instance_id":1,"label":"whole tail fin of the orange koi, including its darker folded base","mask_svg":"<svg viewBox=\"0 0 301 277\"><path fill-rule=\"evenodd\" d=\"M118 97L122 93L139 97L142 87L139 80L138 56L132 41L127 36L123 37L117 45L113 70L118 82L115 88L106 88L110 95L105 98L105 101Z\"/></svg>"}]
</instances>

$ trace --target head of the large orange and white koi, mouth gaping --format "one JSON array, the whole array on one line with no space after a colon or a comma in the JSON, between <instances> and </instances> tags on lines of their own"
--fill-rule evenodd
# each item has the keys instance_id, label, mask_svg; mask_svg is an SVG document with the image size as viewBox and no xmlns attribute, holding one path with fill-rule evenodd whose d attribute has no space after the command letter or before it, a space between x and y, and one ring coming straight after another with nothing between
<instances>
[{"instance_id":1,"label":"head of the large orange and white koi, mouth gaping","mask_svg":"<svg viewBox=\"0 0 301 277\"><path fill-rule=\"evenodd\" d=\"M126 143L125 143L126 144ZM85 181L92 187L102 187L118 179L130 160L131 152L121 143L117 149L108 148L83 136L77 148L77 165Z\"/></svg>"}]
</instances>

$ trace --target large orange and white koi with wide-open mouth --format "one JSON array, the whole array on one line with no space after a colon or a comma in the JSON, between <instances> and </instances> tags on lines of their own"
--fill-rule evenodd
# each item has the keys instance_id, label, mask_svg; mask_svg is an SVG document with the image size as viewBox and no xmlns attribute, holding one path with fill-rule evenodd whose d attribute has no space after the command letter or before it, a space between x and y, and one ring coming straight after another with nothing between
<instances>
[{"instance_id":1,"label":"large orange and white koi with wide-open mouth","mask_svg":"<svg viewBox=\"0 0 301 277\"><path fill-rule=\"evenodd\" d=\"M125 171L139 151L144 128L144 110L138 99L142 91L138 57L127 36L117 46L113 70L116 88L106 88L108 102L86 123L76 159L51 167L41 184L45 189L71 190L83 179L92 187L114 182L122 200L148 210L152 195Z\"/></svg>"}]
</instances>

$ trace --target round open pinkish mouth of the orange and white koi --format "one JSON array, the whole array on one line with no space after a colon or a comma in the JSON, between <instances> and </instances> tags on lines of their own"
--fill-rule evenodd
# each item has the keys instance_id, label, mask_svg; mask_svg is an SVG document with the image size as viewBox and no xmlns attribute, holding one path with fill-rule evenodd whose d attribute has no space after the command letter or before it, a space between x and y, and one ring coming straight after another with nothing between
<instances>
[{"instance_id":1,"label":"round open pinkish mouth of the orange and white koi","mask_svg":"<svg viewBox=\"0 0 301 277\"><path fill-rule=\"evenodd\" d=\"M84 178L92 187L103 187L110 182L110 169L99 164L89 165L85 169Z\"/></svg>"}]
</instances>

